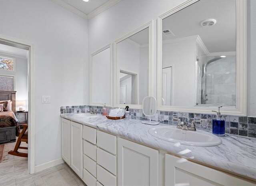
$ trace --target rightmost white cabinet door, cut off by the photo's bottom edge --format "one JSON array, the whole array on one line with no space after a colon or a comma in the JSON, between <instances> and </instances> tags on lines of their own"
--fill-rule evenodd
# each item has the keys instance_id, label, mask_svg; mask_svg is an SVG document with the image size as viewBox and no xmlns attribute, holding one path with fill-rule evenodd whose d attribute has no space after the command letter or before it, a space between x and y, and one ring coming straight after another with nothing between
<instances>
[{"instance_id":1,"label":"rightmost white cabinet door, cut off by the photo's bottom edge","mask_svg":"<svg viewBox=\"0 0 256 186\"><path fill-rule=\"evenodd\" d=\"M171 154L165 156L165 185L255 186L231 174L215 170Z\"/></svg>"}]
</instances>

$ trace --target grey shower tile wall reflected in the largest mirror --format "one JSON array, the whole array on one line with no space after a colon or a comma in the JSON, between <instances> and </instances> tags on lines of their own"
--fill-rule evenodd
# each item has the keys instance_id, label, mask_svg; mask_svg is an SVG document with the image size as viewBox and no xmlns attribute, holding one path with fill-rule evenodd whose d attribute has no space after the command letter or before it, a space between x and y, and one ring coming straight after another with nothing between
<instances>
[{"instance_id":1,"label":"grey shower tile wall reflected in the largest mirror","mask_svg":"<svg viewBox=\"0 0 256 186\"><path fill-rule=\"evenodd\" d=\"M218 56L215 56L218 57ZM204 85L204 78L203 78ZM207 104L236 105L236 56L210 63L206 71Z\"/></svg>"}]
</instances>

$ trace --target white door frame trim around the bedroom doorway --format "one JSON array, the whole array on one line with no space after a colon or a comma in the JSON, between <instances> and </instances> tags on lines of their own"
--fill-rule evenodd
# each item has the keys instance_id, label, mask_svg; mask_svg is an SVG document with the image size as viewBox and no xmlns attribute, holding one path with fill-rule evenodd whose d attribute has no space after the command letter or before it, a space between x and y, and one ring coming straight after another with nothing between
<instances>
[{"instance_id":1,"label":"white door frame trim around the bedroom doorway","mask_svg":"<svg viewBox=\"0 0 256 186\"><path fill-rule=\"evenodd\" d=\"M28 173L35 173L35 47L31 42L0 34L0 40L14 46L27 46L28 55Z\"/></svg>"}]
</instances>

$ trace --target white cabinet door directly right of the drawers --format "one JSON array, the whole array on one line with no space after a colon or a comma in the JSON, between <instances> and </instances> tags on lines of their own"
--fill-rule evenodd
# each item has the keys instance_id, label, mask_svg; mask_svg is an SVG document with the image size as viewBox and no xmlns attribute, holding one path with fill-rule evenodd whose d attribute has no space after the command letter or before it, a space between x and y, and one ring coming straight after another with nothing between
<instances>
[{"instance_id":1,"label":"white cabinet door directly right of the drawers","mask_svg":"<svg viewBox=\"0 0 256 186\"><path fill-rule=\"evenodd\" d=\"M118 186L158 186L159 152L118 138Z\"/></svg>"}]
</instances>

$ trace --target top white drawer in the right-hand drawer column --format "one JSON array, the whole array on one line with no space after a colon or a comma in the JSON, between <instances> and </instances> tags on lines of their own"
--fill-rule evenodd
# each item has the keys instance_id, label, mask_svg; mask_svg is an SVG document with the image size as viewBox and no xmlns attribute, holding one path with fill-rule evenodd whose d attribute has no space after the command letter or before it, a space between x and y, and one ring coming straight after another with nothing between
<instances>
[{"instance_id":1,"label":"top white drawer in the right-hand drawer column","mask_svg":"<svg viewBox=\"0 0 256 186\"><path fill-rule=\"evenodd\" d=\"M116 136L97 131L97 145L104 150L116 154Z\"/></svg>"}]
</instances>

